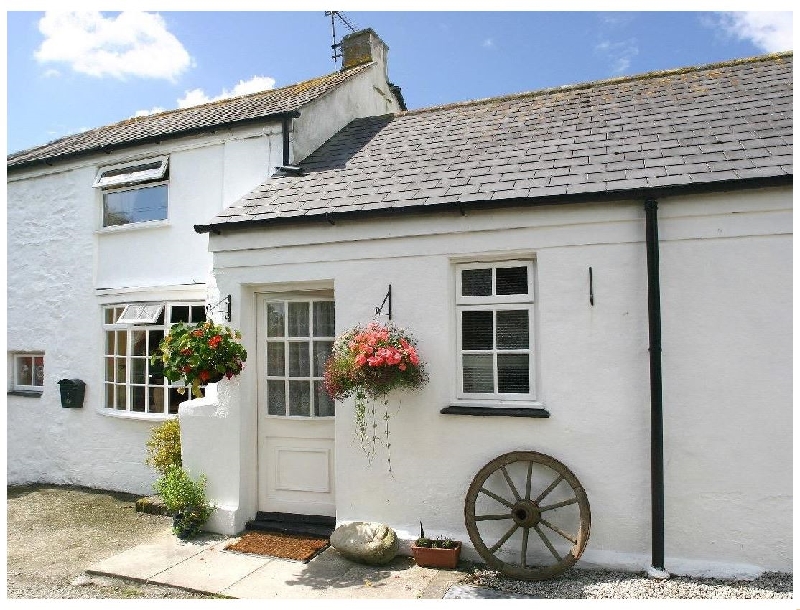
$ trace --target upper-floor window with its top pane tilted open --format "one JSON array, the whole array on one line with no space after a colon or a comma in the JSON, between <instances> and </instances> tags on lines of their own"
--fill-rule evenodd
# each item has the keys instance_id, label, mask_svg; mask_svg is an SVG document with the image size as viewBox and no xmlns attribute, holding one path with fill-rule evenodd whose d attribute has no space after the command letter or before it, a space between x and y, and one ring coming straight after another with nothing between
<instances>
[{"instance_id":1,"label":"upper-floor window with its top pane tilted open","mask_svg":"<svg viewBox=\"0 0 800 610\"><path fill-rule=\"evenodd\" d=\"M103 226L167 219L168 157L102 168L94 188L103 193Z\"/></svg>"}]
</instances>

